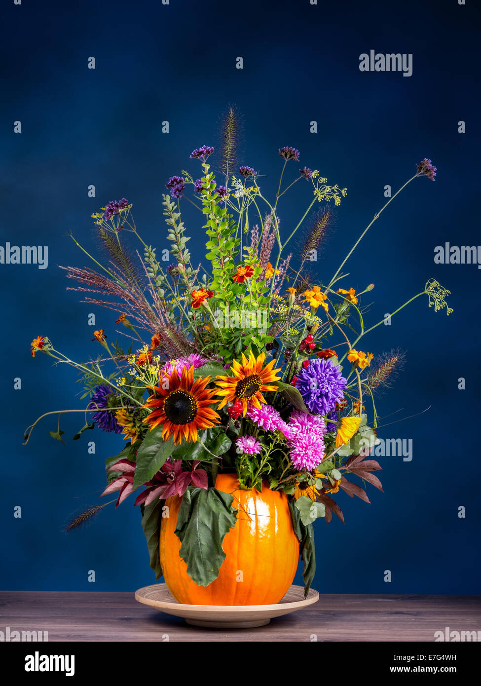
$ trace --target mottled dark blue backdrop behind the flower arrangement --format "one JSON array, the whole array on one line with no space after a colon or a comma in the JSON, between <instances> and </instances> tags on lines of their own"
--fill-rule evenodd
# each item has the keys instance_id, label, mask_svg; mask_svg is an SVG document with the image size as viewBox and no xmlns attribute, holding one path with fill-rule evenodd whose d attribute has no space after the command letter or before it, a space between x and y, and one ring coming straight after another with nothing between
<instances>
[{"instance_id":1,"label":"mottled dark blue backdrop behind the flower arrangement","mask_svg":"<svg viewBox=\"0 0 481 686\"><path fill-rule=\"evenodd\" d=\"M412 462L381 458L385 492L368 488L371 505L340 493L347 525L316 524L314 587L324 593L479 592L481 276L476 265L434 264L434 248L445 241L480 242L474 5L3 3L0 243L49 246L49 268L0 265L1 587L130 591L154 582L133 499L117 511L107 508L83 530L62 532L74 512L98 502L104 460L122 441L95 430L72 442L82 421L70 416L62 418L67 447L47 434L55 418L21 445L23 430L39 414L82 407L73 396L79 388L72 370L51 366L43 355L32 359L29 344L48 335L73 359L96 354L89 348L97 345L90 343L91 311L115 338L115 313L82 305L65 290L58 265L87 264L68 229L95 249L91 213L126 196L145 240L167 248L165 182L183 168L200 176L189 153L217 144L219 115L234 102L244 113L239 163L268 174L264 189L277 187L282 145L294 145L302 165L347 187L318 262L324 281L384 204L384 185L397 189L424 156L438 167L436 182L416 179L390 204L347 265L347 287L376 285L366 317L371 323L423 290L430 277L451 289L449 318L419 298L362 346L407 351L403 375L378 401L382 416L400 410L385 423L430 410L379 429L384 438L414 442ZM360 72L359 56L371 48L412 53L412 77ZM90 56L95 70L87 69ZM235 69L237 56L243 70ZM16 120L21 134L13 132ZM161 132L163 120L169 134ZM312 120L317 134L309 133ZM458 133L460 120L465 134ZM288 174L297 167L290 163ZM96 198L87 197L90 184ZM303 180L282 198L284 236L310 198ZM196 262L204 252L202 223L189 211L186 221ZM14 377L21 377L21 390L13 390ZM466 390L458 390L459 377ZM87 453L87 440L95 440L95 455ZM22 517L14 519L18 505ZM458 506L465 506L465 519ZM95 584L87 581L91 569Z\"/></svg>"}]
</instances>

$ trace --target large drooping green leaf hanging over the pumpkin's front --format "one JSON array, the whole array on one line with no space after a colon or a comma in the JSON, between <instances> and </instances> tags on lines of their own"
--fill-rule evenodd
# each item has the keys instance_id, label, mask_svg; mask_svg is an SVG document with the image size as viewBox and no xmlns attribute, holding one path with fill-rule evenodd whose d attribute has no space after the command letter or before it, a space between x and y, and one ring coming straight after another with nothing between
<instances>
[{"instance_id":1,"label":"large drooping green leaf hanging over the pumpkin's front","mask_svg":"<svg viewBox=\"0 0 481 686\"><path fill-rule=\"evenodd\" d=\"M198 586L209 586L219 576L226 558L222 541L237 518L232 502L230 493L217 488L189 488L183 496L176 526L182 541L179 554Z\"/></svg>"}]
</instances>

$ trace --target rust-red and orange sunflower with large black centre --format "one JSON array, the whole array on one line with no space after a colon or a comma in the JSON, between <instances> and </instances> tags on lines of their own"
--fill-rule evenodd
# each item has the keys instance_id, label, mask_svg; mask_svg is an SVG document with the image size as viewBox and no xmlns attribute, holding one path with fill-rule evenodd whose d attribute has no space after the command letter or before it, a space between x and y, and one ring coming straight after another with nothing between
<instances>
[{"instance_id":1,"label":"rust-red and orange sunflower with large black centre","mask_svg":"<svg viewBox=\"0 0 481 686\"><path fill-rule=\"evenodd\" d=\"M162 438L174 436L177 445L184 437L196 442L197 429L211 429L220 422L220 416L212 410L214 390L206 390L211 377L193 380L193 365L183 366L179 377L176 368L163 374L162 386L150 387L154 392L143 407L152 412L144 419L150 429L163 424ZM167 381L167 383L165 383Z\"/></svg>"}]
</instances>

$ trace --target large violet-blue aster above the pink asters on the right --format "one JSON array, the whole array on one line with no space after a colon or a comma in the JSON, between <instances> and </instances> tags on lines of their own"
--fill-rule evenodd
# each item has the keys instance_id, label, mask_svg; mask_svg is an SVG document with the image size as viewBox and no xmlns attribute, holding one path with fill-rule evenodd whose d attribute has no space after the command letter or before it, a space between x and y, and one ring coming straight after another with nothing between
<instances>
[{"instance_id":1,"label":"large violet-blue aster above the pink asters on the right","mask_svg":"<svg viewBox=\"0 0 481 686\"><path fill-rule=\"evenodd\" d=\"M347 380L338 364L328 359L313 359L308 367L301 367L296 379L303 401L314 414L327 414L344 398L342 391Z\"/></svg>"}]
</instances>

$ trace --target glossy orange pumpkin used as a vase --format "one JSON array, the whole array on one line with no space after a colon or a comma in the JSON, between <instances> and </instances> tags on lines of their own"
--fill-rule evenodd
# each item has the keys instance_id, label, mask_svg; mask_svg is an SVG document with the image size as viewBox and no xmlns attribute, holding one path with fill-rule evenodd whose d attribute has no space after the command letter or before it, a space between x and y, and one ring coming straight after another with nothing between
<instances>
[{"instance_id":1,"label":"glossy orange pumpkin used as a vase","mask_svg":"<svg viewBox=\"0 0 481 686\"><path fill-rule=\"evenodd\" d=\"M181 498L165 501L169 516L162 519L160 558L163 576L174 598L189 605L266 605L279 602L296 573L299 542L285 493L263 484L241 490L235 474L220 474L215 488L234 497L238 510L235 527L222 542L226 559L209 586L198 586L187 574L175 534Z\"/></svg>"}]
</instances>

